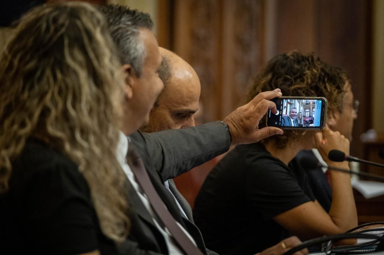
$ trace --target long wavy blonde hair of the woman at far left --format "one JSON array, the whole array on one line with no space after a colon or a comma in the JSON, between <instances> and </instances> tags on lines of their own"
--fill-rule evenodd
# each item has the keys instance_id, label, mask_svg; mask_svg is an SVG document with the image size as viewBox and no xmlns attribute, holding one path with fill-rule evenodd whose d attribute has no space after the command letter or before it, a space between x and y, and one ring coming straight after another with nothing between
<instances>
[{"instance_id":1,"label":"long wavy blonde hair of the woman at far left","mask_svg":"<svg viewBox=\"0 0 384 255\"><path fill-rule=\"evenodd\" d=\"M0 59L0 193L27 140L41 139L78 165L101 229L117 241L129 230L126 178L116 160L119 67L103 15L75 2L23 16Z\"/></svg>"}]
</instances>

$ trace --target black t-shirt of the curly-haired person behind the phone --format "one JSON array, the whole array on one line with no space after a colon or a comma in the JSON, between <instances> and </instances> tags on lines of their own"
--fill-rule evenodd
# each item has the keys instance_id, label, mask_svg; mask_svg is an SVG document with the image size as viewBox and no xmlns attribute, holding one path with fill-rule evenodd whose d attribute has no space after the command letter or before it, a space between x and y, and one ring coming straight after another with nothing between
<instances>
[{"instance_id":1,"label":"black t-shirt of the curly-haired person behind the phone","mask_svg":"<svg viewBox=\"0 0 384 255\"><path fill-rule=\"evenodd\" d=\"M298 163L288 168L255 143L237 146L218 162L197 195L193 214L207 248L247 255L289 236L272 217L314 200Z\"/></svg>"}]
</instances>

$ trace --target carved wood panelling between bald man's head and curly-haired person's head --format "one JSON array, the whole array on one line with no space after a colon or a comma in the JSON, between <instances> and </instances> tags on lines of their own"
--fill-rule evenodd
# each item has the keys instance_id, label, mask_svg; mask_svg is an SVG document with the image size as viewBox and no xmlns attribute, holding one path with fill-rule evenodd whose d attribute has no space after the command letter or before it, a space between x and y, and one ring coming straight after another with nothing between
<instances>
[{"instance_id":1,"label":"carved wood panelling between bald man's head and curly-haired person's head","mask_svg":"<svg viewBox=\"0 0 384 255\"><path fill-rule=\"evenodd\" d=\"M173 49L199 75L205 121L222 119L244 102L261 62L262 2L175 2Z\"/></svg>"}]
</instances>

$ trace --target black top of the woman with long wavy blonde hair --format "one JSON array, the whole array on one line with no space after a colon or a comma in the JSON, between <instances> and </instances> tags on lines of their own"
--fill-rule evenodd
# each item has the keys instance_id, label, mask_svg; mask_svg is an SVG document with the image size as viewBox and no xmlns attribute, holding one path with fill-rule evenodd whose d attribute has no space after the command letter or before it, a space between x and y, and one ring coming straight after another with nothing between
<instances>
[{"instance_id":1,"label":"black top of the woman with long wavy blonde hair","mask_svg":"<svg viewBox=\"0 0 384 255\"><path fill-rule=\"evenodd\" d=\"M78 167L42 142L28 142L0 195L0 254L117 254L101 232Z\"/></svg>"}]
</instances>

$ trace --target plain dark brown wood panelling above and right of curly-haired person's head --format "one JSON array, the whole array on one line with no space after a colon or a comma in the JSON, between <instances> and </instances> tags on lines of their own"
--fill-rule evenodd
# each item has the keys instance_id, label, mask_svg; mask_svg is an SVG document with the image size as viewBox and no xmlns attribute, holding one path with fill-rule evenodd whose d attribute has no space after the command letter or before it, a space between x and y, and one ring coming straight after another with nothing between
<instances>
[{"instance_id":1,"label":"plain dark brown wood panelling above and right of curly-haired person's head","mask_svg":"<svg viewBox=\"0 0 384 255\"><path fill-rule=\"evenodd\" d=\"M275 54L298 49L346 70L360 101L351 154L362 157L360 134L371 127L371 0L277 0ZM267 17L270 18L270 17Z\"/></svg>"}]
</instances>

